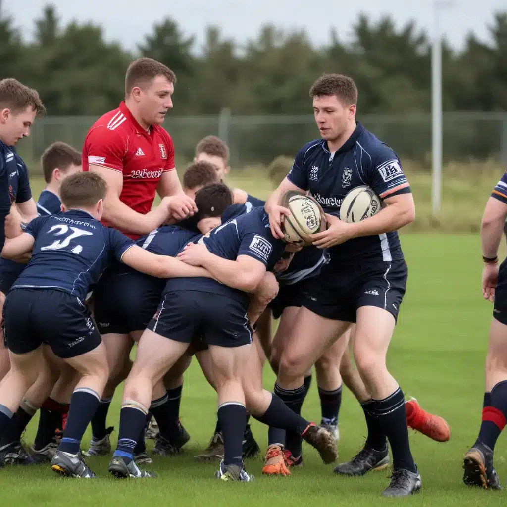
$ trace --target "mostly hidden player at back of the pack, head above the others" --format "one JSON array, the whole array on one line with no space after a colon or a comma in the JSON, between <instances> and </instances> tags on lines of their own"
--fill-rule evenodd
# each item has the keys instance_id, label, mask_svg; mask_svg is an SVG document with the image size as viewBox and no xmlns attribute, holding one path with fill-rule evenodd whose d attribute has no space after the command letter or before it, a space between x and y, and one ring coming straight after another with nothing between
<instances>
[{"instance_id":1,"label":"mostly hidden player at back of the pack, head above the others","mask_svg":"<svg viewBox=\"0 0 507 507\"><path fill-rule=\"evenodd\" d=\"M229 174L229 147L214 135L201 139L195 148L195 162L205 161L213 164L222 181ZM233 189L234 204L251 203L253 206L264 206L264 201L247 194L244 190Z\"/></svg>"}]
</instances>

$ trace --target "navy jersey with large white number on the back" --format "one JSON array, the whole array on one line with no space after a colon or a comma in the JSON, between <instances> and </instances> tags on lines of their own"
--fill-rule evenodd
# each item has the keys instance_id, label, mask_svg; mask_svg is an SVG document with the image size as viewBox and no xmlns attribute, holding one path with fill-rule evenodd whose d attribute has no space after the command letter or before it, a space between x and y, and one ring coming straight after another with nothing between
<instances>
[{"instance_id":1,"label":"navy jersey with large white number on the back","mask_svg":"<svg viewBox=\"0 0 507 507\"><path fill-rule=\"evenodd\" d=\"M53 288L84 301L113 259L135 243L81 209L39 216L26 231L35 238L30 262L12 286Z\"/></svg>"}]
</instances>

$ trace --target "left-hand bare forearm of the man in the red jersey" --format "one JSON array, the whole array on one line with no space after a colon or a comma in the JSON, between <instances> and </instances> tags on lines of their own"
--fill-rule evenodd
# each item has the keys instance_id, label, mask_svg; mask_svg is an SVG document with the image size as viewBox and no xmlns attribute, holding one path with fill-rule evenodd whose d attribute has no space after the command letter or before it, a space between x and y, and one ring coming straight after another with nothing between
<instances>
[{"instance_id":1,"label":"left-hand bare forearm of the man in the red jersey","mask_svg":"<svg viewBox=\"0 0 507 507\"><path fill-rule=\"evenodd\" d=\"M162 225L168 217L167 208L158 206L143 215L133 211L117 199L105 204L102 218L121 231L132 234L148 234Z\"/></svg>"}]
</instances>

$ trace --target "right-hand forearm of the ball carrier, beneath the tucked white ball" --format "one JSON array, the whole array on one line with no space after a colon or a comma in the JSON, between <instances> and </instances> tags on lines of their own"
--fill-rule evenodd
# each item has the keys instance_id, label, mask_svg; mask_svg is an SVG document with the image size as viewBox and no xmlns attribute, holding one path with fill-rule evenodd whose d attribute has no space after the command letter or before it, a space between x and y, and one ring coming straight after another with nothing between
<instances>
[{"instance_id":1,"label":"right-hand forearm of the ball carrier, beneath the tucked white ball","mask_svg":"<svg viewBox=\"0 0 507 507\"><path fill-rule=\"evenodd\" d=\"M414 218L414 206L408 206L405 203L403 205L389 204L376 215L351 224L352 237L374 236L397 231L413 222Z\"/></svg>"}]
</instances>

